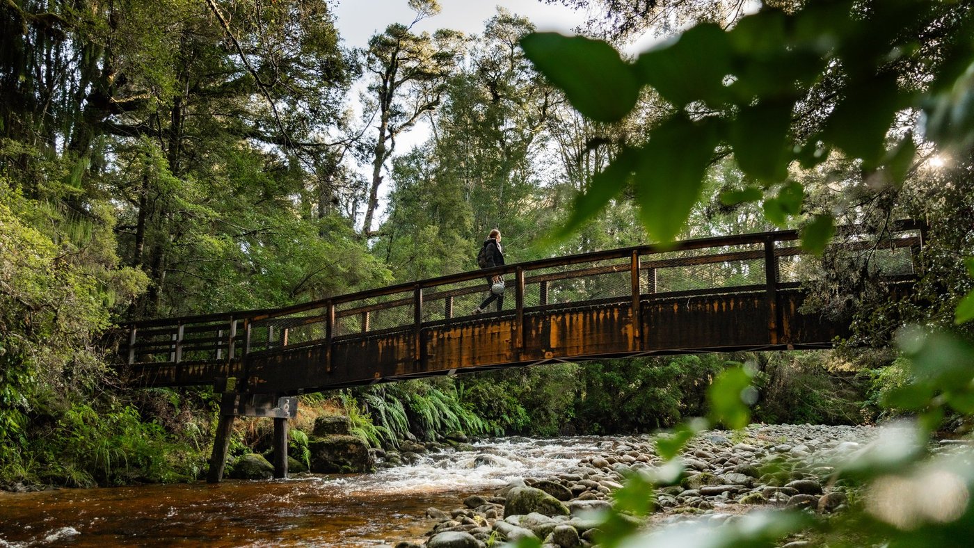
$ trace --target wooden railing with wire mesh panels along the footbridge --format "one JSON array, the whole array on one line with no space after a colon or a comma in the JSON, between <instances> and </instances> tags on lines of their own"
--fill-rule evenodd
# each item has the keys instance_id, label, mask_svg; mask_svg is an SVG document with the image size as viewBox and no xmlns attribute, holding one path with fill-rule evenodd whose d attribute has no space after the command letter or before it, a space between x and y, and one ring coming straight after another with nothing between
<instances>
[{"instance_id":1,"label":"wooden railing with wire mesh panels along the footbridge","mask_svg":"<svg viewBox=\"0 0 974 548\"><path fill-rule=\"evenodd\" d=\"M820 258L798 244L795 231L709 237L668 248L630 247L532 261L342 295L277 310L140 321L125 326L120 361L128 364L232 362L244 354L321 345L350 337L422 330L441 322L481 321L557 308L631 304L715 292L776 291L822 279ZM917 223L899 222L880 240L839 232L827 257L861 261L872 274L913 274L921 244ZM842 255L844 253L844 255ZM474 314L488 295L487 277L506 279L504 308Z\"/></svg>"}]
</instances>

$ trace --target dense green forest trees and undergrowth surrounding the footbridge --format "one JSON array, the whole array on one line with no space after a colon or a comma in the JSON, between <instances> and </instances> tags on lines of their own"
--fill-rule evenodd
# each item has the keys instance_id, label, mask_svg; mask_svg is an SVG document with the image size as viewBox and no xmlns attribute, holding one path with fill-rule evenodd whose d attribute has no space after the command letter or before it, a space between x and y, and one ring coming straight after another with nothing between
<instances>
[{"instance_id":1,"label":"dense green forest trees and undergrowth surrounding the footbridge","mask_svg":"<svg viewBox=\"0 0 974 548\"><path fill-rule=\"evenodd\" d=\"M944 386L881 348L907 322L969 335L955 327L974 286L969 10L609 4L614 40L651 19L708 22L630 59L531 35L504 10L479 35L393 23L356 52L323 0L0 6L0 485L198 477L211 394L114 392L101 340L113 323L470 270L495 227L508 263L645 242L643 226L656 239L802 227L819 252L836 224L881 238L914 217L928 231L899 303L878 298L880 253L824 252L806 306L853 321L840 352L546 365L302 405L336 396L355 433L386 446L450 430L647 431L712 411L728 425L922 412ZM435 15L411 5L414 23ZM422 124L428 138L395 149ZM556 226L574 232L551 238ZM724 376L728 362L746 373ZM752 383L741 415L735 386ZM949 393L930 421L962 426L969 394ZM268 443L255 424L235 453ZM292 444L307 452L307 436Z\"/></svg>"}]
</instances>

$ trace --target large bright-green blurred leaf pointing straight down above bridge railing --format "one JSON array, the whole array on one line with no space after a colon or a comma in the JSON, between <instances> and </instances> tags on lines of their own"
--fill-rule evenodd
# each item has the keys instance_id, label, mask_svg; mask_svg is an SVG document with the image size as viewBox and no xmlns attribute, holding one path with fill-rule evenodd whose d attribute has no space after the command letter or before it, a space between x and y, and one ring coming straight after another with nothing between
<instances>
[{"instance_id":1,"label":"large bright-green blurred leaf pointing straight down above bridge railing","mask_svg":"<svg viewBox=\"0 0 974 548\"><path fill-rule=\"evenodd\" d=\"M651 132L636 168L640 219L651 237L672 241L700 197L703 174L717 146L714 121L677 115Z\"/></svg>"}]
</instances>

